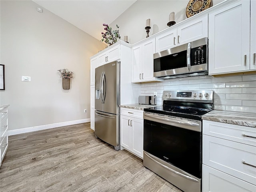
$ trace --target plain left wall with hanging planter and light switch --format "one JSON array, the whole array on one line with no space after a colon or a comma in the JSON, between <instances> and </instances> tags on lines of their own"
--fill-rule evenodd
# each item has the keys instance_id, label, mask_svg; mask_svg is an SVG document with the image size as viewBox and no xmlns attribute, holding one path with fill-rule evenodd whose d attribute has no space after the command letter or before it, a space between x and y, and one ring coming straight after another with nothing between
<instances>
[{"instance_id":1,"label":"plain left wall with hanging planter and light switch","mask_svg":"<svg viewBox=\"0 0 256 192\"><path fill-rule=\"evenodd\" d=\"M32 1L0 1L1 64L10 104L9 129L16 130L90 118L90 56L105 44ZM74 72L70 90L57 70ZM21 76L31 76L22 82ZM87 109L87 113L84 113Z\"/></svg>"}]
</instances>

